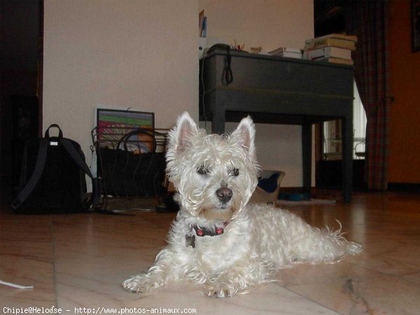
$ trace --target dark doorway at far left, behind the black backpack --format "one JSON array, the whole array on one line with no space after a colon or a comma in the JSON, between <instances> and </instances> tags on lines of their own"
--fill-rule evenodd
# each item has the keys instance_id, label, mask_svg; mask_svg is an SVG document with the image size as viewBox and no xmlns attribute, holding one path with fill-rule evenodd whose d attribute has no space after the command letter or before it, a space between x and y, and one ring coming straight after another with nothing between
<instances>
[{"instance_id":1,"label":"dark doorway at far left, behind the black backpack","mask_svg":"<svg viewBox=\"0 0 420 315\"><path fill-rule=\"evenodd\" d=\"M25 142L42 132L43 1L2 0L0 14L0 176L1 183L7 183L3 189L18 186Z\"/></svg>"}]
</instances>

